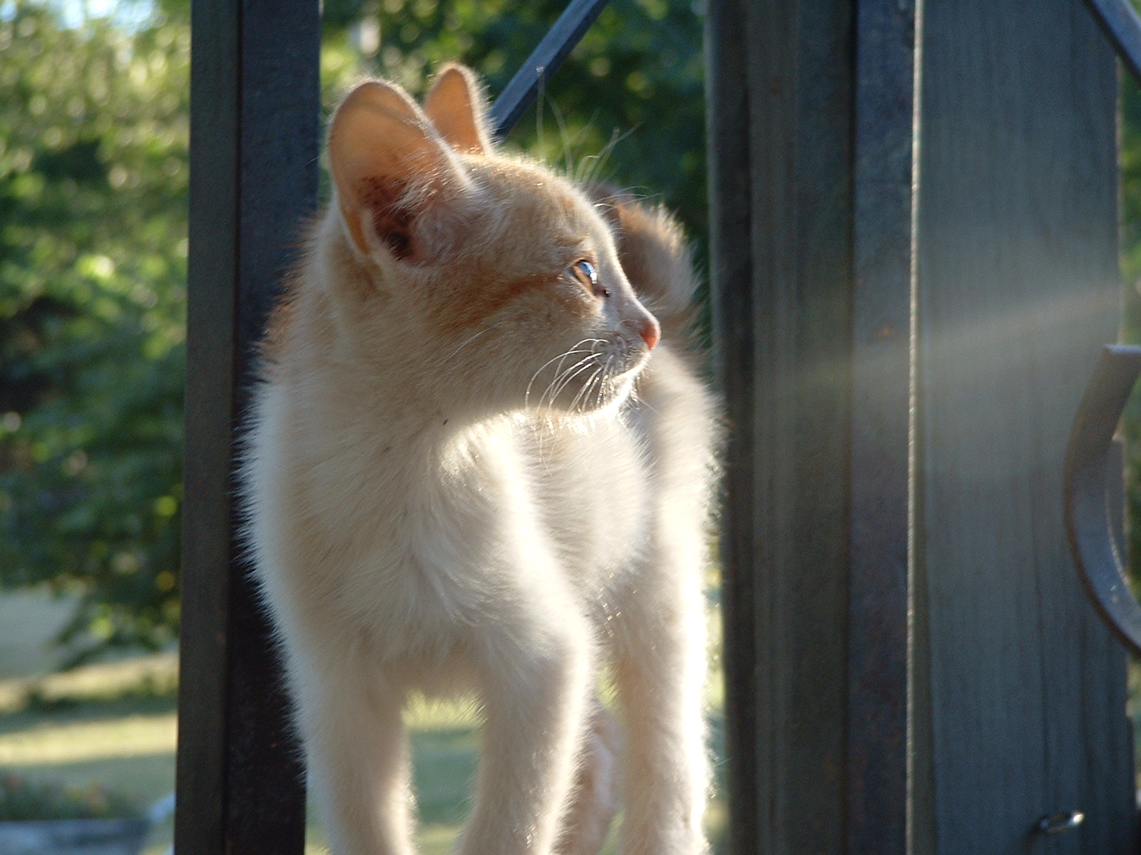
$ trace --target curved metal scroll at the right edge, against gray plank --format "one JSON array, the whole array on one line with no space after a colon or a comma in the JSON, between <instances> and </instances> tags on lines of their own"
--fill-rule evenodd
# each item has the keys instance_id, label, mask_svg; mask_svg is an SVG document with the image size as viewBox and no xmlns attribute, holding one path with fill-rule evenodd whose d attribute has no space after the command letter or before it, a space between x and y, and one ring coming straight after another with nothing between
<instances>
[{"instance_id":1,"label":"curved metal scroll at the right edge, against gray plank","mask_svg":"<svg viewBox=\"0 0 1141 855\"><path fill-rule=\"evenodd\" d=\"M1110 442L1139 373L1141 347L1106 345L1070 431L1062 490L1066 534L1086 594L1117 637L1141 653L1141 605L1126 581L1106 502Z\"/></svg>"}]
</instances>

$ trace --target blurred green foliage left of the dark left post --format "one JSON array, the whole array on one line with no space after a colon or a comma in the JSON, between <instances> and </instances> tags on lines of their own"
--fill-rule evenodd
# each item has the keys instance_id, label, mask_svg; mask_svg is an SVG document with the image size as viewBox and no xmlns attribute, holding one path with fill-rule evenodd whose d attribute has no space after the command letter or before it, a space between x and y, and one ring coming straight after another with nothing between
<instances>
[{"instance_id":1,"label":"blurred green foliage left of the dark left post","mask_svg":"<svg viewBox=\"0 0 1141 855\"><path fill-rule=\"evenodd\" d=\"M178 619L185 22L0 22L0 581L81 605L73 659Z\"/></svg>"}]
</instances>

